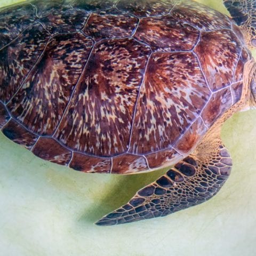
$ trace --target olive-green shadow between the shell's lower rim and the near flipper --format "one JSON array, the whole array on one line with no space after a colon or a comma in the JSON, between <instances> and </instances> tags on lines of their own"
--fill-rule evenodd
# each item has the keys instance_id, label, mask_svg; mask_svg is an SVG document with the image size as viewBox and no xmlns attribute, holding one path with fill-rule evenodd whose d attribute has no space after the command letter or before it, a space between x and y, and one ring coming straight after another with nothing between
<instances>
[{"instance_id":1,"label":"olive-green shadow between the shell's lower rim and the near flipper","mask_svg":"<svg viewBox=\"0 0 256 256\"><path fill-rule=\"evenodd\" d=\"M95 223L104 215L129 202L138 190L154 182L169 169L170 167L153 172L130 175L112 174L113 179L111 179L111 183L106 189L107 192L102 190L102 194L106 195L102 195L100 201L95 202L91 209L82 214L78 222Z\"/></svg>"}]
</instances>

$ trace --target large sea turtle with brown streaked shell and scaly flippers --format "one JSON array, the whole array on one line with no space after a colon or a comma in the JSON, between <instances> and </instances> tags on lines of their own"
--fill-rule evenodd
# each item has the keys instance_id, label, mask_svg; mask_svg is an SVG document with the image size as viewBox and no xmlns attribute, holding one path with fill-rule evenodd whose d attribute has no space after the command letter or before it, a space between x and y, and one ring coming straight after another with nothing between
<instances>
[{"instance_id":1,"label":"large sea turtle with brown streaked shell and scaly flippers","mask_svg":"<svg viewBox=\"0 0 256 256\"><path fill-rule=\"evenodd\" d=\"M31 1L0 11L0 127L82 172L174 167L98 225L161 217L218 193L220 138L256 106L255 0L233 19L189 0Z\"/></svg>"}]
</instances>

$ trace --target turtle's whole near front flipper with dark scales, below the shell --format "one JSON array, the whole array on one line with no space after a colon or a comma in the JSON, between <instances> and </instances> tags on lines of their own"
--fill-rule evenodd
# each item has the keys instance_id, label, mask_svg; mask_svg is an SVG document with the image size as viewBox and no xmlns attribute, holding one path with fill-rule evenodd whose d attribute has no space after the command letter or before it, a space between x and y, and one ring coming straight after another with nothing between
<instances>
[{"instance_id":1,"label":"turtle's whole near front flipper with dark scales, below the shell","mask_svg":"<svg viewBox=\"0 0 256 256\"><path fill-rule=\"evenodd\" d=\"M201 204L218 193L229 177L231 166L230 155L220 137L208 136L197 146L195 154L184 158L96 224L109 226L163 217Z\"/></svg>"}]
</instances>

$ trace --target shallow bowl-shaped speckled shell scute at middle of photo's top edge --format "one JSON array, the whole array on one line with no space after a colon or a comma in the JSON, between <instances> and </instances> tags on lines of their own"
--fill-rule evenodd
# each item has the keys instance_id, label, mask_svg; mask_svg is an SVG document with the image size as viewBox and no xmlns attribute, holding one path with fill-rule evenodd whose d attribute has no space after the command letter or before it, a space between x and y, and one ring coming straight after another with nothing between
<instances>
[{"instance_id":1,"label":"shallow bowl-shaped speckled shell scute at middle of photo's top edge","mask_svg":"<svg viewBox=\"0 0 256 256\"><path fill-rule=\"evenodd\" d=\"M116 7L141 18L166 15L176 2L176 0L120 0Z\"/></svg>"}]
</instances>

